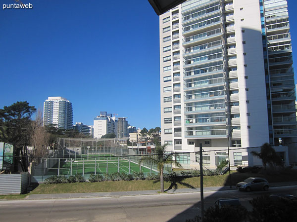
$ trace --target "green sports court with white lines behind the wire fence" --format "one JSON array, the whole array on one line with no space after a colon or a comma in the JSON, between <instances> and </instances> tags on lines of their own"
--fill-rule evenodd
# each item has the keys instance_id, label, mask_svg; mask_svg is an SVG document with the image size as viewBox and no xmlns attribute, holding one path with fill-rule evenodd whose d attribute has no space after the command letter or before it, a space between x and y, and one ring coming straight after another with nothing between
<instances>
[{"instance_id":1,"label":"green sports court with white lines behind the wire fence","mask_svg":"<svg viewBox=\"0 0 297 222\"><path fill-rule=\"evenodd\" d=\"M112 154L83 154L76 155L76 158L60 159L60 164L50 168L47 175L58 175L58 171L59 175L153 172L150 167L140 166L137 159L127 160Z\"/></svg>"}]
</instances>

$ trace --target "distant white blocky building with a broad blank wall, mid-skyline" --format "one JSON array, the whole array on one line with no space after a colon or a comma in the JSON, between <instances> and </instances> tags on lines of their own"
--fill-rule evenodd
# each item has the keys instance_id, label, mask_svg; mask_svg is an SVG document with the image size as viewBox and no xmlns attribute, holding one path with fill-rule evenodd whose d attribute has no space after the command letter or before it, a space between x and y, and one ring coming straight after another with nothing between
<instances>
[{"instance_id":1,"label":"distant white blocky building with a broad blank wall, mid-skyline","mask_svg":"<svg viewBox=\"0 0 297 222\"><path fill-rule=\"evenodd\" d=\"M113 133L117 135L117 120L115 116L106 111L100 111L100 115L94 118L94 138Z\"/></svg>"}]
</instances>

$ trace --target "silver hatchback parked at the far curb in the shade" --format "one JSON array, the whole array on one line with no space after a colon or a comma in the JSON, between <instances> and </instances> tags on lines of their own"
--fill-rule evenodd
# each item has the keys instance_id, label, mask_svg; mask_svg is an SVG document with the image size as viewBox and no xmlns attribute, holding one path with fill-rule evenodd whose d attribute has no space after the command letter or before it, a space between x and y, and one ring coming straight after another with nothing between
<instances>
[{"instance_id":1,"label":"silver hatchback parked at the far curb in the shade","mask_svg":"<svg viewBox=\"0 0 297 222\"><path fill-rule=\"evenodd\" d=\"M259 177L250 177L244 180L243 182L240 182L236 185L236 187L239 190L245 190L249 192L250 190L256 190L256 189L269 189L269 183L265 178L259 178Z\"/></svg>"}]
</instances>

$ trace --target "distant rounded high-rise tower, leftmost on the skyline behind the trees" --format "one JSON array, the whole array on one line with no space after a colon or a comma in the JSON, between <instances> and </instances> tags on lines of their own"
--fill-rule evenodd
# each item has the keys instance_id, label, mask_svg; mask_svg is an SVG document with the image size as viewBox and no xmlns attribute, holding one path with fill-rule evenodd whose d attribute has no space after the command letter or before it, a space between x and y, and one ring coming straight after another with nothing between
<instances>
[{"instance_id":1,"label":"distant rounded high-rise tower, leftmost on the skyline behind the trees","mask_svg":"<svg viewBox=\"0 0 297 222\"><path fill-rule=\"evenodd\" d=\"M72 129L72 103L63 97L49 97L44 102L44 126L55 124L59 129Z\"/></svg>"}]
</instances>

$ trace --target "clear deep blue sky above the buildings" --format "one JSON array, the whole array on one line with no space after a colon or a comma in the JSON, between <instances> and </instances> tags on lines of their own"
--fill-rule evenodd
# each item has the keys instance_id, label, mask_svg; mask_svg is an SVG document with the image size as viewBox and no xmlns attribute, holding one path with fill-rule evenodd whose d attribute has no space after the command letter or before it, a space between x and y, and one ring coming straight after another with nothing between
<instances>
[{"instance_id":1,"label":"clear deep blue sky above the buildings","mask_svg":"<svg viewBox=\"0 0 297 222\"><path fill-rule=\"evenodd\" d=\"M160 126L159 18L148 0L0 2L0 109L27 101L43 111L61 96L74 123L93 125L107 111L137 128ZM294 51L297 2L288 4Z\"/></svg>"}]
</instances>

